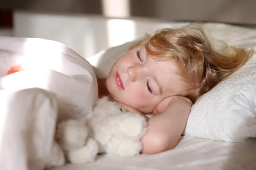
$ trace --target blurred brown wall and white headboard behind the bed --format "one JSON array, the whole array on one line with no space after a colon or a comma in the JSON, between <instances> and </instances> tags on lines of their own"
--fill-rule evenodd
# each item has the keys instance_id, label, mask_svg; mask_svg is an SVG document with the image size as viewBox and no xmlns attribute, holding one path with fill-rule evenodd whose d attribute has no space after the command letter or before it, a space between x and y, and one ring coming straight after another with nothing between
<instances>
[{"instance_id":1,"label":"blurred brown wall and white headboard behind the bed","mask_svg":"<svg viewBox=\"0 0 256 170\"><path fill-rule=\"evenodd\" d=\"M256 27L256 0L0 1L0 36L55 40L84 58L194 21Z\"/></svg>"}]
</instances>

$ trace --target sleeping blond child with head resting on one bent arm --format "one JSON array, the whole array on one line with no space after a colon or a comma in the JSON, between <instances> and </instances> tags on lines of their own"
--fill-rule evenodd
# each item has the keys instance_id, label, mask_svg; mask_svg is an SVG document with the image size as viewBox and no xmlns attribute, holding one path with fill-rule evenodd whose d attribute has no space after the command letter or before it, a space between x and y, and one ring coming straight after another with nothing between
<instances>
[{"instance_id":1,"label":"sleeping blond child with head resting on one bent arm","mask_svg":"<svg viewBox=\"0 0 256 170\"><path fill-rule=\"evenodd\" d=\"M97 79L99 98L153 114L142 153L163 152L179 142L192 104L251 54L229 45L216 49L195 24L159 29L117 59L107 78Z\"/></svg>"}]
</instances>

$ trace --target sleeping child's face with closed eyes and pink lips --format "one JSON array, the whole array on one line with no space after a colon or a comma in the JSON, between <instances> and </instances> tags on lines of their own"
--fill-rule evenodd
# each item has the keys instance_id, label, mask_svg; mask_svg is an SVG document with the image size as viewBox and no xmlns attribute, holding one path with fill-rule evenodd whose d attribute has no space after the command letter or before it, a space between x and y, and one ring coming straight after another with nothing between
<instances>
[{"instance_id":1,"label":"sleeping child's face with closed eyes and pink lips","mask_svg":"<svg viewBox=\"0 0 256 170\"><path fill-rule=\"evenodd\" d=\"M184 91L176 63L152 59L144 45L122 55L113 64L106 83L113 99L143 113L151 112L166 97Z\"/></svg>"}]
</instances>

